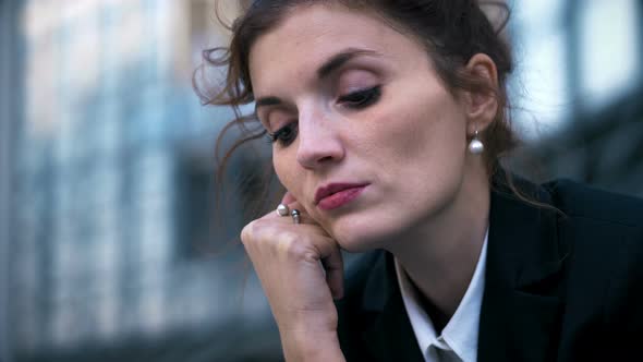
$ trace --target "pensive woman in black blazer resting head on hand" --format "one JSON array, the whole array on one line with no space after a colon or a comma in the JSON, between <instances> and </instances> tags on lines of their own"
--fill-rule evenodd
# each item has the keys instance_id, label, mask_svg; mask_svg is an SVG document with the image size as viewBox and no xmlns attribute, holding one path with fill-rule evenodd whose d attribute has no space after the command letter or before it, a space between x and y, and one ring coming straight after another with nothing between
<instances>
[{"instance_id":1,"label":"pensive woman in black blazer resting head on hand","mask_svg":"<svg viewBox=\"0 0 643 362\"><path fill-rule=\"evenodd\" d=\"M512 62L475 1L254 1L233 32L208 102L274 143L288 192L241 239L288 361L638 350L643 203L498 167Z\"/></svg>"}]
</instances>

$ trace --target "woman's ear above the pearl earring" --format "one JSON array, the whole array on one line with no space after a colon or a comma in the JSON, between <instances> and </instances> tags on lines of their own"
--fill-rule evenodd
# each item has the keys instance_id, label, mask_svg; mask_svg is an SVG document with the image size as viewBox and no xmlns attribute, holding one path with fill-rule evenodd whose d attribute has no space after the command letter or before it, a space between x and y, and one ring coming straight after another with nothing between
<instances>
[{"instance_id":1,"label":"woman's ear above the pearl earring","mask_svg":"<svg viewBox=\"0 0 643 362\"><path fill-rule=\"evenodd\" d=\"M473 56L466 64L466 72L477 79L489 89L498 88L498 71L496 63L484 53ZM469 134L486 129L498 112L498 99L489 92L465 92L464 107L468 117Z\"/></svg>"}]
</instances>

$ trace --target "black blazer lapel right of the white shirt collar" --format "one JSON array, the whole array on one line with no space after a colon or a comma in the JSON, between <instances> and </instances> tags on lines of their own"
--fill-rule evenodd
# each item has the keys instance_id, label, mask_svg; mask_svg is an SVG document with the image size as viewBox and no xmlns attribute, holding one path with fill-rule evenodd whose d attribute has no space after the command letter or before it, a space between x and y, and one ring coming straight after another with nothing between
<instances>
[{"instance_id":1,"label":"black blazer lapel right of the white shirt collar","mask_svg":"<svg viewBox=\"0 0 643 362\"><path fill-rule=\"evenodd\" d=\"M527 188L549 202L544 189ZM558 244L556 224L555 210L529 205L504 185L492 192L478 361L555 360L569 252Z\"/></svg>"}]
</instances>

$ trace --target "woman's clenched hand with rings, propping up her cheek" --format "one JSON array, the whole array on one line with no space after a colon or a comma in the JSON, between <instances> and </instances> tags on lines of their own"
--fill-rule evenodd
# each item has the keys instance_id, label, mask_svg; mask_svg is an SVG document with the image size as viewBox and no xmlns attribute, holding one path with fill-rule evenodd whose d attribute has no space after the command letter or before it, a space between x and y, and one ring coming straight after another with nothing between
<instances>
[{"instance_id":1,"label":"woman's clenched hand with rings, propping up her cheek","mask_svg":"<svg viewBox=\"0 0 643 362\"><path fill-rule=\"evenodd\" d=\"M286 358L343 360L332 302L332 295L343 293L339 245L290 193L281 203L300 210L301 224L270 212L243 228L241 240L279 326Z\"/></svg>"}]
</instances>

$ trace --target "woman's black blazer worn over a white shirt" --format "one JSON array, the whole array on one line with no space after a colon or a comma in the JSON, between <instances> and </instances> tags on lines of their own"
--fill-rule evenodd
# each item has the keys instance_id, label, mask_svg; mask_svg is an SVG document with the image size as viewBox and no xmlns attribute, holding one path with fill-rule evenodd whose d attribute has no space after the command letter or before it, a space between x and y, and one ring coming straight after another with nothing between
<instances>
[{"instance_id":1,"label":"woman's black blazer worn over a white shirt","mask_svg":"<svg viewBox=\"0 0 643 362\"><path fill-rule=\"evenodd\" d=\"M565 215L495 183L478 361L643 361L643 201L571 181L522 188ZM360 256L344 288L348 361L423 361L392 255Z\"/></svg>"}]
</instances>

